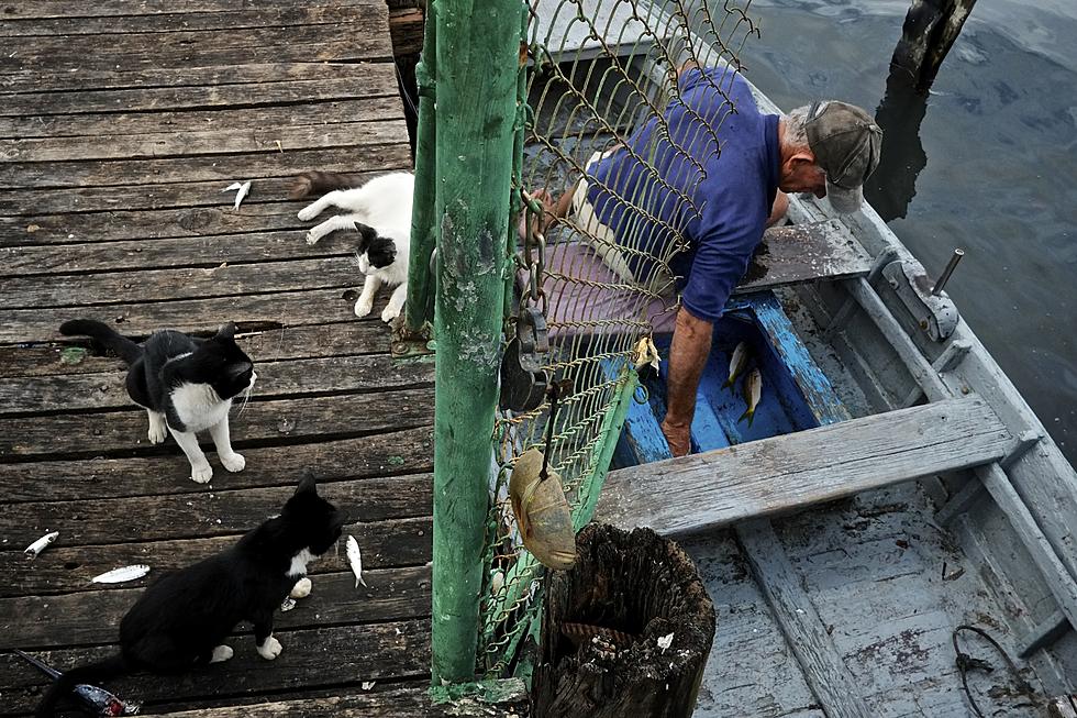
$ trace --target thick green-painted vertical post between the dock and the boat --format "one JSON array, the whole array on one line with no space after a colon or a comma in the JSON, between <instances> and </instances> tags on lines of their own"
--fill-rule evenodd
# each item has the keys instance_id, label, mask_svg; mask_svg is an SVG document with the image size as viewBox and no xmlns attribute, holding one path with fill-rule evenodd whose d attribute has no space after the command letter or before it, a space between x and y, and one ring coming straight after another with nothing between
<instances>
[{"instance_id":1,"label":"thick green-painted vertical post between the dock and the boat","mask_svg":"<svg viewBox=\"0 0 1077 718\"><path fill-rule=\"evenodd\" d=\"M522 10L437 0L435 686L475 678Z\"/></svg>"}]
</instances>

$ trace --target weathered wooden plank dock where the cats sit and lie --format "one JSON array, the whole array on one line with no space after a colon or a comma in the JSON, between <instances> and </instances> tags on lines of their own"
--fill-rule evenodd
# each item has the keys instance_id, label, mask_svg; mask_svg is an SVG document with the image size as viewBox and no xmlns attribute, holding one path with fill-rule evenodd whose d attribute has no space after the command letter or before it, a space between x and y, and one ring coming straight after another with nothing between
<instances>
[{"instance_id":1,"label":"weathered wooden plank dock where the cats sit and lie","mask_svg":"<svg viewBox=\"0 0 1077 718\"><path fill-rule=\"evenodd\" d=\"M91 576L147 563L152 579L216 551L311 467L354 519L369 588L326 556L311 597L278 616L274 663L246 631L229 663L108 686L147 713L435 715L433 365L395 362L377 310L355 319L347 238L308 246L302 205L287 200L301 170L411 166L385 1L2 12L0 649L62 669L109 653L144 582ZM243 180L253 187L233 210L221 190ZM227 474L210 453L214 478L200 486L171 440L149 446L120 362L62 353L57 327L80 316L136 336L235 321L259 374L232 418L247 468ZM26 560L53 530L59 540ZM0 654L0 715L26 714L43 686Z\"/></svg>"}]
</instances>

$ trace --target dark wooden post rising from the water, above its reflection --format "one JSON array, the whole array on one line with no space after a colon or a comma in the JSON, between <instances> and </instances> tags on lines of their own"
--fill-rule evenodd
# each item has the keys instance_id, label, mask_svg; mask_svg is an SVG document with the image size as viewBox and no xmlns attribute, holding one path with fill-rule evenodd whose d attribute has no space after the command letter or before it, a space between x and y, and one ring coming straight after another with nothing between
<instances>
[{"instance_id":1,"label":"dark wooden post rising from the water, above its reflection","mask_svg":"<svg viewBox=\"0 0 1077 718\"><path fill-rule=\"evenodd\" d=\"M909 74L921 92L935 80L976 0L912 0L893 49L890 70Z\"/></svg>"}]
</instances>

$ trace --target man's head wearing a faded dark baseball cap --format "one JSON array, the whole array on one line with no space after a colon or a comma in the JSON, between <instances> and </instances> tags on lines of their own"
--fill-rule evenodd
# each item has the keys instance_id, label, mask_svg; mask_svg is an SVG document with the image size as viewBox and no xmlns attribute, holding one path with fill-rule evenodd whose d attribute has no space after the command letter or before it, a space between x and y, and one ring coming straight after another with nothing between
<instances>
[{"instance_id":1,"label":"man's head wearing a faded dark baseball cap","mask_svg":"<svg viewBox=\"0 0 1077 718\"><path fill-rule=\"evenodd\" d=\"M845 214L861 207L864 180L879 164L882 130L861 108L814 102L781 118L778 187L826 197Z\"/></svg>"}]
</instances>

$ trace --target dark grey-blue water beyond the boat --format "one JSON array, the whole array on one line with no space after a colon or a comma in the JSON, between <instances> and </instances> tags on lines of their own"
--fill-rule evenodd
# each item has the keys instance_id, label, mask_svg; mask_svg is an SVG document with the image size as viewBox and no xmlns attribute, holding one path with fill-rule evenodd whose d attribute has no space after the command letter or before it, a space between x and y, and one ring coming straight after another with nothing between
<instances>
[{"instance_id":1,"label":"dark grey-blue water beyond the boat","mask_svg":"<svg viewBox=\"0 0 1077 718\"><path fill-rule=\"evenodd\" d=\"M909 4L753 2L747 76L782 108L874 113ZM926 100L885 111L880 213L929 274L965 250L946 291L1077 464L1077 1L980 0Z\"/></svg>"}]
</instances>

